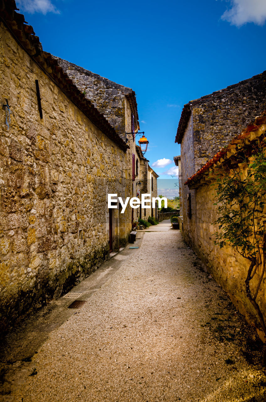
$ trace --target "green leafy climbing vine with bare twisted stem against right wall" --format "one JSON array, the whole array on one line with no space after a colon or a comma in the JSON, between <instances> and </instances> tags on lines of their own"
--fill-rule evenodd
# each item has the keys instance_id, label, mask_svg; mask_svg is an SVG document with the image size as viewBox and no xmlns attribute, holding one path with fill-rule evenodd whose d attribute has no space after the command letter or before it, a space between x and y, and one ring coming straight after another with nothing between
<instances>
[{"instance_id":1,"label":"green leafy climbing vine with bare twisted stem against right wall","mask_svg":"<svg viewBox=\"0 0 266 402\"><path fill-rule=\"evenodd\" d=\"M215 233L215 244L231 246L250 262L246 295L266 336L265 318L257 301L266 267L266 153L261 144L257 143L250 155L243 153L241 162L242 169L235 163L229 174L217 179L219 232Z\"/></svg>"}]
</instances>

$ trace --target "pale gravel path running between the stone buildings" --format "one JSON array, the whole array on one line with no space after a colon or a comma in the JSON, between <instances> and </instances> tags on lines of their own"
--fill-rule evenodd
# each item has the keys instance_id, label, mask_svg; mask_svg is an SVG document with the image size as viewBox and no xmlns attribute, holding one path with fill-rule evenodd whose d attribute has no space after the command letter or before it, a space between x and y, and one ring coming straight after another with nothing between
<instances>
[{"instance_id":1,"label":"pale gravel path running between the stone buildings","mask_svg":"<svg viewBox=\"0 0 266 402\"><path fill-rule=\"evenodd\" d=\"M149 232L51 332L10 400L265 402L260 348L179 231Z\"/></svg>"}]
</instances>

